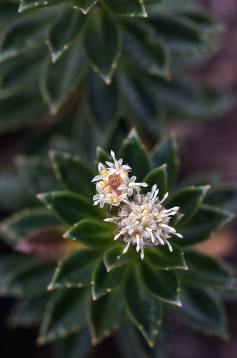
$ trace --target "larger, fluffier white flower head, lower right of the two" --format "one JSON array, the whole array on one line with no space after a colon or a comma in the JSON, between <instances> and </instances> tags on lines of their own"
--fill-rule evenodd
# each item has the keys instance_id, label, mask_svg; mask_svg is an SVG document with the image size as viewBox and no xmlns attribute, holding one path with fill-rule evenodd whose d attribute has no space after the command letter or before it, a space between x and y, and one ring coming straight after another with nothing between
<instances>
[{"instance_id":1,"label":"larger, fluffier white flower head, lower right of the two","mask_svg":"<svg viewBox=\"0 0 237 358\"><path fill-rule=\"evenodd\" d=\"M169 234L182 237L168 225L171 216L177 213L179 207L165 209L161 204L168 193L160 201L157 197L158 191L156 185L154 185L152 191L146 195L136 194L131 201L124 199L125 204L118 211L118 216L104 220L118 225L119 232L114 240L121 236L123 241L127 242L124 253L127 252L130 245L136 245L136 251L141 250L140 256L143 259L145 247L167 243L170 251L172 251L171 244L168 241L171 237Z\"/></svg>"}]
</instances>

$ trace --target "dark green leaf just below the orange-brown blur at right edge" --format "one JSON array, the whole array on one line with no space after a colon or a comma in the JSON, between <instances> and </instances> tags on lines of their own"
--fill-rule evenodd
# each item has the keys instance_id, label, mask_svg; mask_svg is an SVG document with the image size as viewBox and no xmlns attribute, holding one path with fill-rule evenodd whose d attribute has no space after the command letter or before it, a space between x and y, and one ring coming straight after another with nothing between
<instances>
[{"instance_id":1,"label":"dark green leaf just below the orange-brown blur at right edge","mask_svg":"<svg viewBox=\"0 0 237 358\"><path fill-rule=\"evenodd\" d=\"M185 251L188 271L180 273L184 282L191 285L209 286L219 289L236 287L234 271L226 263L196 251Z\"/></svg>"}]
</instances>

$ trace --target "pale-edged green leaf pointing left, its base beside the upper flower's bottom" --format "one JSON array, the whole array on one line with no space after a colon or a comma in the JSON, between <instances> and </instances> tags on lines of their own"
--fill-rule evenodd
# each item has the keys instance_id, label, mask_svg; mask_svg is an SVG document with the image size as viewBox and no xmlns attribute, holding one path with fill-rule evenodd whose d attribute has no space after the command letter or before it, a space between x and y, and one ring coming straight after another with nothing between
<instances>
[{"instance_id":1,"label":"pale-edged green leaf pointing left, its base beside the upper flower's bottom","mask_svg":"<svg viewBox=\"0 0 237 358\"><path fill-rule=\"evenodd\" d=\"M84 196L69 191L38 194L47 209L61 221L73 225L85 218L102 218L100 211Z\"/></svg>"}]
</instances>

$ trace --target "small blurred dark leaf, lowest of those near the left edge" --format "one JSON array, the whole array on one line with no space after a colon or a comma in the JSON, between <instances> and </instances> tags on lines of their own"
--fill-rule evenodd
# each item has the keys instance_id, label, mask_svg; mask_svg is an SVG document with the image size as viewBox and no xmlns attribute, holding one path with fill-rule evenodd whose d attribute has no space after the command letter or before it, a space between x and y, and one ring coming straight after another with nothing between
<instances>
[{"instance_id":1,"label":"small blurred dark leaf, lowest of those near the left edge","mask_svg":"<svg viewBox=\"0 0 237 358\"><path fill-rule=\"evenodd\" d=\"M50 296L51 294L46 293L43 296L17 301L10 311L7 324L12 328L37 326L43 318L45 306Z\"/></svg>"}]
</instances>

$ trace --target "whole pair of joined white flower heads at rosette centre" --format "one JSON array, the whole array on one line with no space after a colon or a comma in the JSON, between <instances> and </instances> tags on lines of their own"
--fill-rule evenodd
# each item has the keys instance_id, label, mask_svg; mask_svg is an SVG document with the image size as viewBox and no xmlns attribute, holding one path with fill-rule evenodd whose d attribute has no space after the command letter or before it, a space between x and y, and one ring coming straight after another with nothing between
<instances>
[{"instance_id":1,"label":"whole pair of joined white flower heads at rosette centre","mask_svg":"<svg viewBox=\"0 0 237 358\"><path fill-rule=\"evenodd\" d=\"M94 195L94 205L100 203L102 208L105 203L111 206L118 206L116 217L107 218L104 221L114 222L118 226L118 234L114 237L116 240L121 237L127 243L123 253L126 253L129 246L136 246L136 251L141 250L141 259L144 258L144 248L152 245L164 245L167 243L170 251L172 247L167 240L175 234L178 237L182 235L176 233L176 230L170 227L169 221L172 215L175 215L179 207L165 209L162 206L168 193L162 200L158 198L159 189L156 185L152 191L140 194L140 186L148 186L146 183L135 183L136 177L129 178L128 171L131 168L128 165L122 165L123 160L116 161L114 153L111 151L114 164L106 162L109 168L105 168L99 163L100 175L93 178L92 182L97 181L98 194Z\"/></svg>"}]
</instances>

